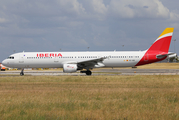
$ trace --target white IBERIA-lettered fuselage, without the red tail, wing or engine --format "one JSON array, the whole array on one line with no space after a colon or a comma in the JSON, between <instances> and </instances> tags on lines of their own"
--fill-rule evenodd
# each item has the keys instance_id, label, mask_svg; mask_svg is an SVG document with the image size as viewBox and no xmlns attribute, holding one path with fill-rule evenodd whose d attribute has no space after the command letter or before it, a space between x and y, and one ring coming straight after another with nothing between
<instances>
[{"instance_id":1,"label":"white IBERIA-lettered fuselage, without the red tail, wing or engine","mask_svg":"<svg viewBox=\"0 0 179 120\"><path fill-rule=\"evenodd\" d=\"M10 55L3 65L11 68L62 68L65 63L79 63L105 57L103 66L133 67L146 51L128 52L21 52Z\"/></svg>"}]
</instances>

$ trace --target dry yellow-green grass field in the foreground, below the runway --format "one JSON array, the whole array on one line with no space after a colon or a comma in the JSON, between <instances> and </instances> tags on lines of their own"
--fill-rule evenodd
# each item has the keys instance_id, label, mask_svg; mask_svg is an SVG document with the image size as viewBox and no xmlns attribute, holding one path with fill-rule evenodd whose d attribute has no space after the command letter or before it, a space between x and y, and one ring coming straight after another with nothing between
<instances>
[{"instance_id":1,"label":"dry yellow-green grass field in the foreground, below the runway","mask_svg":"<svg viewBox=\"0 0 179 120\"><path fill-rule=\"evenodd\" d=\"M2 120L179 119L179 76L0 78Z\"/></svg>"}]
</instances>

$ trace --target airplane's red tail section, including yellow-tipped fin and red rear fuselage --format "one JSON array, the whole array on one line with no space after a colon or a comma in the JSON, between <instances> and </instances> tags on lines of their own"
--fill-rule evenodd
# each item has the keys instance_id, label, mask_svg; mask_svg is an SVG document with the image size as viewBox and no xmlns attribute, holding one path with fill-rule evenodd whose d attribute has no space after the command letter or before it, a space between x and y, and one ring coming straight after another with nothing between
<instances>
[{"instance_id":1,"label":"airplane's red tail section, including yellow-tipped fin and red rear fuselage","mask_svg":"<svg viewBox=\"0 0 179 120\"><path fill-rule=\"evenodd\" d=\"M145 52L136 66L164 60L168 55L174 28L166 28L152 46Z\"/></svg>"}]
</instances>

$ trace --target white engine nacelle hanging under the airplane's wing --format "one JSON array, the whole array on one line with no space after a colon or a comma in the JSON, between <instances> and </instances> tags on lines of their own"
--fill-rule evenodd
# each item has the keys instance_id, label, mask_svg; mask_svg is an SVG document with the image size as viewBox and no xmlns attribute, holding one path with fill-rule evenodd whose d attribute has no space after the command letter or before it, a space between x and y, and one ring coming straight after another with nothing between
<instances>
[{"instance_id":1,"label":"white engine nacelle hanging under the airplane's wing","mask_svg":"<svg viewBox=\"0 0 179 120\"><path fill-rule=\"evenodd\" d=\"M77 64L63 64L64 73L76 72L78 69Z\"/></svg>"}]
</instances>

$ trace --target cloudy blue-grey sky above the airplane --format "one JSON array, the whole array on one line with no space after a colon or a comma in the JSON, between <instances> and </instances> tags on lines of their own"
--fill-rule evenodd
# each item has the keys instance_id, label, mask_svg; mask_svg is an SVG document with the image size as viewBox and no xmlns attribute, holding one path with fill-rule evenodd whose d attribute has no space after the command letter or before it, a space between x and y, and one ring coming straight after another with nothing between
<instances>
[{"instance_id":1,"label":"cloudy blue-grey sky above the airplane","mask_svg":"<svg viewBox=\"0 0 179 120\"><path fill-rule=\"evenodd\" d=\"M17 52L146 50L174 27L178 0L0 0L0 62ZM176 39L176 41L174 41Z\"/></svg>"}]
</instances>

